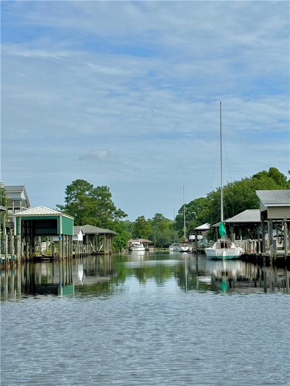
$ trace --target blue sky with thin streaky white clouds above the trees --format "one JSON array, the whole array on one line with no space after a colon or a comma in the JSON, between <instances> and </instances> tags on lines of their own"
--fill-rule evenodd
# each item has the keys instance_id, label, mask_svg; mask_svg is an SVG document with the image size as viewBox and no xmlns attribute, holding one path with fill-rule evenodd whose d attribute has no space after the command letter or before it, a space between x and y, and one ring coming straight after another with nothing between
<instances>
[{"instance_id":1,"label":"blue sky with thin streaky white clouds above the trees","mask_svg":"<svg viewBox=\"0 0 290 386\"><path fill-rule=\"evenodd\" d=\"M134 221L289 157L289 2L2 1L1 181L76 179Z\"/></svg>"}]
</instances>

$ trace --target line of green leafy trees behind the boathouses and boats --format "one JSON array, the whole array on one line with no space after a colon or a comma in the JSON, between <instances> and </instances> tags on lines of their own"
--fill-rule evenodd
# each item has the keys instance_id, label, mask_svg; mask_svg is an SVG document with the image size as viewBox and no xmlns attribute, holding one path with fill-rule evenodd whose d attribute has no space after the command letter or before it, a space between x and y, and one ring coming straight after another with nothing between
<instances>
[{"instance_id":1,"label":"line of green leafy trees behind the boathouses and boats","mask_svg":"<svg viewBox=\"0 0 290 386\"><path fill-rule=\"evenodd\" d=\"M251 177L229 182L224 186L225 218L233 217L246 209L258 209L259 199L255 190L289 189L290 178L276 167L262 170ZM184 205L186 230L220 219L221 189L216 188ZM126 248L130 238L146 238L157 247L168 247L172 242L181 241L184 233L183 205L174 220L156 213L152 219L139 216L135 221L125 218L127 214L117 209L108 186L96 186L77 179L66 186L64 205L57 209L75 218L75 225L91 224L108 228L117 233L113 238L114 250Z\"/></svg>"}]
</instances>

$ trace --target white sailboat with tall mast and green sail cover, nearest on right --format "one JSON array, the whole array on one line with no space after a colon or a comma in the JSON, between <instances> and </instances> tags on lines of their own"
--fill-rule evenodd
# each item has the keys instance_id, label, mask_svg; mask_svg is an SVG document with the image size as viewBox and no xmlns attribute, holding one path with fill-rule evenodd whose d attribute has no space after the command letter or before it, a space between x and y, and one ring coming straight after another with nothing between
<instances>
[{"instance_id":1,"label":"white sailboat with tall mast and green sail cover, nearest on right","mask_svg":"<svg viewBox=\"0 0 290 386\"><path fill-rule=\"evenodd\" d=\"M218 239L212 247L204 248L204 252L209 259L238 259L243 248L237 247L235 243L226 237L227 232L224 223L224 205L223 205L223 159L222 159L222 102L220 103L220 139L221 139L221 223L219 233L221 238Z\"/></svg>"}]
</instances>

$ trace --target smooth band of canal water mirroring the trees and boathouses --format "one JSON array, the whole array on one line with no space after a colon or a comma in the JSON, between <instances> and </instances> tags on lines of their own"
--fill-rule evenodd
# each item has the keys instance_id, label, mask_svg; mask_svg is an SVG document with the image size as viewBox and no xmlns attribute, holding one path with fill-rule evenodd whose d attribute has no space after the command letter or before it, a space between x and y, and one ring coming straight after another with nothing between
<instances>
[{"instance_id":1,"label":"smooth band of canal water mirroring the trees and boathouses","mask_svg":"<svg viewBox=\"0 0 290 386\"><path fill-rule=\"evenodd\" d=\"M289 294L286 268L241 260L212 261L188 253L132 252L119 256L24 263L1 273L1 297L112 295L147 288L154 291Z\"/></svg>"}]
</instances>

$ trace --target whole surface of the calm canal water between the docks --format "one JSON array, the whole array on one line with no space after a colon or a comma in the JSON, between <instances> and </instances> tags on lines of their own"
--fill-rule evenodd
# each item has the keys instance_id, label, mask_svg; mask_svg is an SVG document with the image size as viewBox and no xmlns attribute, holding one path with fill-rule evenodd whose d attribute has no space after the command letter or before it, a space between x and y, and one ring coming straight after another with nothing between
<instances>
[{"instance_id":1,"label":"whole surface of the calm canal water between the docks","mask_svg":"<svg viewBox=\"0 0 290 386\"><path fill-rule=\"evenodd\" d=\"M289 385L289 272L132 253L1 271L2 386Z\"/></svg>"}]
</instances>

